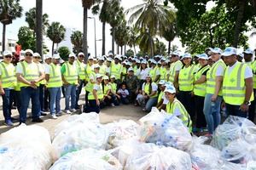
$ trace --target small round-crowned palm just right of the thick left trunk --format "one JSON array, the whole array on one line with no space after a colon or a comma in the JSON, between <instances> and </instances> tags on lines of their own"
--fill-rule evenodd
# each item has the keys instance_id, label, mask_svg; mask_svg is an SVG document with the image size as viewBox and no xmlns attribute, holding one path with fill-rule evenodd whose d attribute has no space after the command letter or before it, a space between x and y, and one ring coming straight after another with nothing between
<instances>
[{"instance_id":1,"label":"small round-crowned palm just right of the thick left trunk","mask_svg":"<svg viewBox=\"0 0 256 170\"><path fill-rule=\"evenodd\" d=\"M65 37L66 29L59 22L53 22L47 29L47 37L52 41L52 54L54 54L55 43L60 43Z\"/></svg>"}]
</instances>

